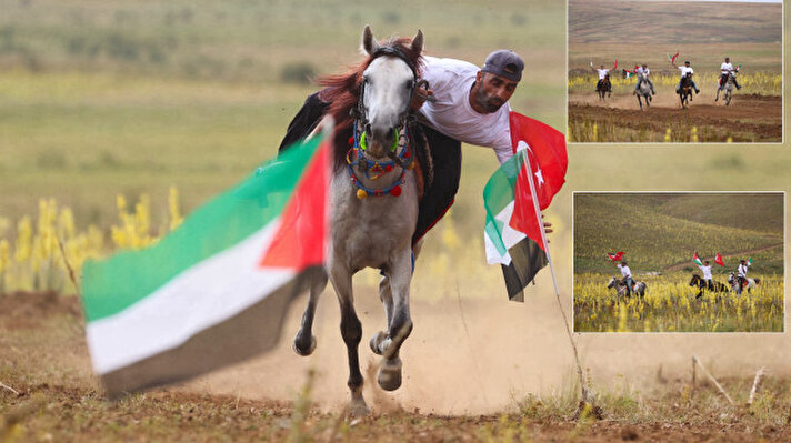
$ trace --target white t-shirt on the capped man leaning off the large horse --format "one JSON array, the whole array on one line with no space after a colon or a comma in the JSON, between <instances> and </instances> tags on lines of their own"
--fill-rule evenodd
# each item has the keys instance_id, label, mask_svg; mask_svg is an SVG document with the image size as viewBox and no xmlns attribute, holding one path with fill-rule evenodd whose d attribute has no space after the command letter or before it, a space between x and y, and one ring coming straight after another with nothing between
<instances>
[{"instance_id":1,"label":"white t-shirt on the capped man leaning off the large horse","mask_svg":"<svg viewBox=\"0 0 791 443\"><path fill-rule=\"evenodd\" d=\"M494 113L479 113L470 104L470 89L480 71L477 66L454 59L423 58L423 79L429 81L434 102L420 108L420 121L443 134L478 147L494 149L502 164L513 155L507 102Z\"/></svg>"}]
</instances>

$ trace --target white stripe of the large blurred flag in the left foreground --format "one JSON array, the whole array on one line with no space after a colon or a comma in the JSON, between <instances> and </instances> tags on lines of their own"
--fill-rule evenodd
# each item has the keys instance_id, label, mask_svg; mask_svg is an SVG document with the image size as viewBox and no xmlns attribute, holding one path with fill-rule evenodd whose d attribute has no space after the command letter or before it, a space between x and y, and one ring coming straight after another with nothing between
<instances>
[{"instance_id":1,"label":"white stripe of the large blurred flag in the left foreground","mask_svg":"<svg viewBox=\"0 0 791 443\"><path fill-rule=\"evenodd\" d=\"M88 323L96 372L112 372L177 348L293 279L296 269L259 266L279 228L277 218L234 246L184 270L138 303Z\"/></svg>"}]
</instances>

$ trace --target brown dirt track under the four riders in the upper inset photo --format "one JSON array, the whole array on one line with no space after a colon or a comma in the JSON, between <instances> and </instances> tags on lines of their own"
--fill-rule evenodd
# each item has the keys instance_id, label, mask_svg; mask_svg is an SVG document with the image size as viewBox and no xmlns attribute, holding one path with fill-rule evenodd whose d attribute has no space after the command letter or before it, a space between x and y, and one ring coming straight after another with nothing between
<instances>
[{"instance_id":1,"label":"brown dirt track under the four riders in the upper inset photo","mask_svg":"<svg viewBox=\"0 0 791 443\"><path fill-rule=\"evenodd\" d=\"M729 107L714 102L702 92L688 109L681 109L674 95L657 95L643 111L631 95L613 95L604 101L593 94L572 95L569 102L570 127L598 125L603 142L663 141L671 129L673 142L692 141L697 128L700 142L780 142L782 140L782 98L737 94ZM573 133L574 131L572 131ZM575 137L574 141L584 140Z\"/></svg>"}]
</instances>

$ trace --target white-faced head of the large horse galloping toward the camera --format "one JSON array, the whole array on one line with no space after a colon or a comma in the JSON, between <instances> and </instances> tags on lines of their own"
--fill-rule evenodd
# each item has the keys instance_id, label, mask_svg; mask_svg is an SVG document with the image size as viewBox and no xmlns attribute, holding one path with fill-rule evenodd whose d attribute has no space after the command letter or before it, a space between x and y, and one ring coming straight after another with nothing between
<instances>
[{"instance_id":1,"label":"white-faced head of the large horse galloping toward the camera","mask_svg":"<svg viewBox=\"0 0 791 443\"><path fill-rule=\"evenodd\" d=\"M372 58L362 73L360 123L367 139L367 152L374 158L387 157L398 142L417 82L417 67L398 47L380 46L370 27L362 32L362 48ZM423 50L423 32L412 39L409 49Z\"/></svg>"}]
</instances>

